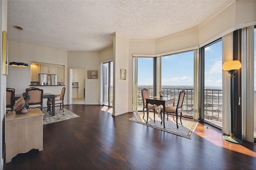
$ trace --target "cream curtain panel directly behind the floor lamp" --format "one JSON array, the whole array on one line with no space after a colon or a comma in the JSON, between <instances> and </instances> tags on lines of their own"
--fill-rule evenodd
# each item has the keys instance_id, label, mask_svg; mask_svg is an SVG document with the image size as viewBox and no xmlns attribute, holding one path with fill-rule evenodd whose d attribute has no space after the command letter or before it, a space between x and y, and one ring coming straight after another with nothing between
<instances>
[{"instance_id":1,"label":"cream curtain panel directly behind the floor lamp","mask_svg":"<svg viewBox=\"0 0 256 170\"><path fill-rule=\"evenodd\" d=\"M222 63L233 60L233 33L222 37ZM229 135L231 130L230 75L222 70L222 132Z\"/></svg>"}]
</instances>

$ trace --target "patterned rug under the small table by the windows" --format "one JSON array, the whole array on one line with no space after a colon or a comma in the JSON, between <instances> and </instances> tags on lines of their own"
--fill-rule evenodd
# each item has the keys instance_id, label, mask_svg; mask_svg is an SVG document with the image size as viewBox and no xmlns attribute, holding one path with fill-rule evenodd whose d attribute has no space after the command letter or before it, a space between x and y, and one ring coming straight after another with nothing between
<instances>
[{"instance_id":1,"label":"patterned rug under the small table by the windows","mask_svg":"<svg viewBox=\"0 0 256 170\"><path fill-rule=\"evenodd\" d=\"M165 116L165 128L164 128L164 123L162 123L161 125L161 117L160 115L158 116L158 114L156 114L155 120L156 122L154 123L154 113L149 112L148 115L148 123L146 123L147 121L147 113L145 112L145 116L143 117L143 113L142 114L138 114L136 113L135 117L130 118L129 120L131 121L135 121L137 123L141 123L143 125L147 125L150 127L154 127L156 129L160 129L162 131L166 131L169 133L173 133L175 135L179 135L182 137L186 137L188 139L192 138L192 135L196 129L196 126L198 125L198 122L194 122L194 121L189 121L186 119L182 119L182 125L180 124L180 117L178 118L178 126L179 128L177 129L176 126L176 121L173 120L172 115L169 115L169 119L166 120L167 115ZM174 119L176 120L176 117L174 116Z\"/></svg>"}]
</instances>

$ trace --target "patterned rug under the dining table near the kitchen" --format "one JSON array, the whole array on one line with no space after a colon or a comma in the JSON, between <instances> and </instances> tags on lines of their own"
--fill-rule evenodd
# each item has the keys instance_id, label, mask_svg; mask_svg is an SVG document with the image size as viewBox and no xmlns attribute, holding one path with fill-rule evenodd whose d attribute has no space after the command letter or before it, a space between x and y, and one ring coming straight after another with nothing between
<instances>
[{"instance_id":1,"label":"patterned rug under the dining table near the kitchen","mask_svg":"<svg viewBox=\"0 0 256 170\"><path fill-rule=\"evenodd\" d=\"M60 110L60 107L55 107L55 115L54 116L52 116L48 113L47 108L43 108L43 113L44 113L43 125L80 117L65 108L64 108L64 112L63 112L62 110Z\"/></svg>"}]
</instances>

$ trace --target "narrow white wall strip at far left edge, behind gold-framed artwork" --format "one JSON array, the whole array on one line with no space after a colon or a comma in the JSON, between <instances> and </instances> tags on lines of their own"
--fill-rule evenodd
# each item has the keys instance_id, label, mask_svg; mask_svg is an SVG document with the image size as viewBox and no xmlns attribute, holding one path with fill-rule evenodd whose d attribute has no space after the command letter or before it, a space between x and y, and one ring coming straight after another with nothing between
<instances>
[{"instance_id":1,"label":"narrow white wall strip at far left edge, behind gold-framed artwork","mask_svg":"<svg viewBox=\"0 0 256 170\"><path fill-rule=\"evenodd\" d=\"M2 74L2 32L7 31L7 3L8 1L0 1L0 82L1 82L1 88L0 88L0 169L3 169L4 166L4 159L3 159L3 152L2 152L2 140L3 140L3 128L5 129L5 112L6 112L6 76ZM8 33L7 33L8 36ZM4 141L5 142L5 141Z\"/></svg>"}]
</instances>

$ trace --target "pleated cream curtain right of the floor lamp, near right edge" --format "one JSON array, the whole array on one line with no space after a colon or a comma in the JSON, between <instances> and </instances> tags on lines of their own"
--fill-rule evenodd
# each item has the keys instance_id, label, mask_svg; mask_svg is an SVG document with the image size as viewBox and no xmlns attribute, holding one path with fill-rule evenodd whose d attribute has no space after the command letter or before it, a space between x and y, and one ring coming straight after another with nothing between
<instances>
[{"instance_id":1,"label":"pleated cream curtain right of the floor lamp, near right edge","mask_svg":"<svg viewBox=\"0 0 256 170\"><path fill-rule=\"evenodd\" d=\"M242 140L254 142L254 26L242 28Z\"/></svg>"}]
</instances>

